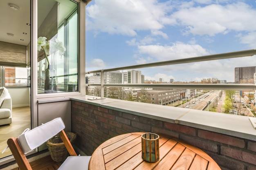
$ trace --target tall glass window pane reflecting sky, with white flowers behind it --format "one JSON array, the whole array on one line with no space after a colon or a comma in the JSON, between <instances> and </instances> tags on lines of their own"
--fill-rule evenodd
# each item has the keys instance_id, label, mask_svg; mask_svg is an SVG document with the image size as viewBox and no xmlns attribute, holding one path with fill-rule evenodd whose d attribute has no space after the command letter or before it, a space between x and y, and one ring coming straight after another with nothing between
<instances>
[{"instance_id":1,"label":"tall glass window pane reflecting sky, with white flowers behind it","mask_svg":"<svg viewBox=\"0 0 256 170\"><path fill-rule=\"evenodd\" d=\"M49 7L42 11L39 7ZM76 91L78 4L38 0L38 93Z\"/></svg>"}]
</instances>

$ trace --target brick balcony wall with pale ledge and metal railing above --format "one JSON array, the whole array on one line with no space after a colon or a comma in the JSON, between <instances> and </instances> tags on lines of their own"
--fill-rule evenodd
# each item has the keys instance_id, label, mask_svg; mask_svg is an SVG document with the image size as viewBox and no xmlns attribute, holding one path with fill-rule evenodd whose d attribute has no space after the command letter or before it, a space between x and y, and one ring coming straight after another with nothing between
<instances>
[{"instance_id":1,"label":"brick balcony wall with pale ledge and metal railing above","mask_svg":"<svg viewBox=\"0 0 256 170\"><path fill-rule=\"evenodd\" d=\"M230 115L187 108L103 98L103 88L180 88L255 91L255 84L104 84L108 71L183 64L208 60L252 56L255 50L172 60L90 71L101 73L101 97L72 98L72 131L77 133L76 145L91 155L104 141L128 132L154 132L186 141L209 154L222 170L256 169L256 130L247 116ZM98 98L98 99L97 99Z\"/></svg>"}]
</instances>

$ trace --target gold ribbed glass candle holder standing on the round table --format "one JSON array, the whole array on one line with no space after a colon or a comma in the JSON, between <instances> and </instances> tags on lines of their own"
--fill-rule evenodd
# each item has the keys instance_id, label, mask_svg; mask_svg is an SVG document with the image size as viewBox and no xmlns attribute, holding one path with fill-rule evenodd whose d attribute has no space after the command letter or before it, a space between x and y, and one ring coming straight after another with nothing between
<instances>
[{"instance_id":1,"label":"gold ribbed glass candle holder standing on the round table","mask_svg":"<svg viewBox=\"0 0 256 170\"><path fill-rule=\"evenodd\" d=\"M141 135L142 159L148 162L159 160L159 135L144 133Z\"/></svg>"}]
</instances>

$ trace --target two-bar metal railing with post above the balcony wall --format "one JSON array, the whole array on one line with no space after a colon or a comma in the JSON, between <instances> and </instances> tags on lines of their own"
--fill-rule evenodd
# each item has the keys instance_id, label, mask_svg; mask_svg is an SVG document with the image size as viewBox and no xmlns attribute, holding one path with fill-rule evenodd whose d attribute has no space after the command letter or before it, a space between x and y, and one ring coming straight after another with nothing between
<instances>
[{"instance_id":1,"label":"two-bar metal railing with post above the balcony wall","mask_svg":"<svg viewBox=\"0 0 256 170\"><path fill-rule=\"evenodd\" d=\"M204 55L199 57L184 58L178 60L169 60L164 62L154 62L148 64L139 64L133 66L124 66L117 68L108 68L101 70L94 70L85 72L85 74L91 73L101 73L101 84L86 84L86 86L101 86L101 97L104 97L104 86L107 87L138 87L138 88L179 88L179 89L216 89L216 90L246 90L246 91L255 91L255 84L104 84L104 72L110 71L121 71L135 68L147 68L154 66L166 66L173 64L185 64L192 62L203 62L211 60L223 60L229 58L237 57L248 57L256 55L256 49L245 50L245 51L236 51L231 53L221 53L214 55Z\"/></svg>"}]
</instances>

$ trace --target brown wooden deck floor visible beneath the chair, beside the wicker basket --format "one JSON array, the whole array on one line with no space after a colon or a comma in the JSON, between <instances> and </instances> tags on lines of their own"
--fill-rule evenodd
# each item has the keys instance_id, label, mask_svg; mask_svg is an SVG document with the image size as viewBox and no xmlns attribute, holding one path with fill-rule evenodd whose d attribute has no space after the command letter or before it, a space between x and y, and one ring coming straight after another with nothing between
<instances>
[{"instance_id":1,"label":"brown wooden deck floor visible beneath the chair, beside the wicker basket","mask_svg":"<svg viewBox=\"0 0 256 170\"><path fill-rule=\"evenodd\" d=\"M54 162L50 155L33 161L30 163L33 170L57 170L61 163ZM20 170L19 168L14 168L13 170Z\"/></svg>"}]
</instances>

